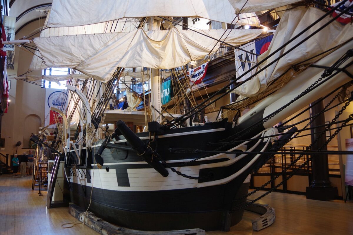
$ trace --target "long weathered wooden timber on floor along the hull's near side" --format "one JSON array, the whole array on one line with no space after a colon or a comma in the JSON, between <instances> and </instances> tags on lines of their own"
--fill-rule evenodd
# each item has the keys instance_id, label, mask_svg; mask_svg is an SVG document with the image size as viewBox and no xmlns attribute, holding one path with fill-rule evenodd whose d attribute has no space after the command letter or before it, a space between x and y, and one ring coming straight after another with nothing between
<instances>
[{"instance_id":1,"label":"long weathered wooden timber on floor along the hull's near side","mask_svg":"<svg viewBox=\"0 0 353 235\"><path fill-rule=\"evenodd\" d=\"M86 218L84 216L84 210L80 209L75 204L70 204L69 213L77 218L79 221L85 223L91 229L97 231L100 234L121 234L121 235L205 235L205 230L196 229L184 229L184 230L170 230L170 231L141 231L116 226L104 221L101 218L96 217L92 212L87 212Z\"/></svg>"}]
</instances>

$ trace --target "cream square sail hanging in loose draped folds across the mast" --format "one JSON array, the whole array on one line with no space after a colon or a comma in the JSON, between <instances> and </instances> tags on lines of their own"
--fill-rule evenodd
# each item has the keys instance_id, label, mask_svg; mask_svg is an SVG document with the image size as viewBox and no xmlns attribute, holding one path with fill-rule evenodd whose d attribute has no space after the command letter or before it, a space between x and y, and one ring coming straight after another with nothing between
<instances>
[{"instance_id":1,"label":"cream square sail hanging in loose draped folds across the mast","mask_svg":"<svg viewBox=\"0 0 353 235\"><path fill-rule=\"evenodd\" d=\"M201 32L238 46L255 39L263 30L228 30L229 35L228 32L223 35L224 30ZM220 46L213 38L176 28L34 38L43 61L32 61L30 70L42 69L44 63L48 68L74 68L106 82L117 67L170 69L204 58Z\"/></svg>"}]
</instances>

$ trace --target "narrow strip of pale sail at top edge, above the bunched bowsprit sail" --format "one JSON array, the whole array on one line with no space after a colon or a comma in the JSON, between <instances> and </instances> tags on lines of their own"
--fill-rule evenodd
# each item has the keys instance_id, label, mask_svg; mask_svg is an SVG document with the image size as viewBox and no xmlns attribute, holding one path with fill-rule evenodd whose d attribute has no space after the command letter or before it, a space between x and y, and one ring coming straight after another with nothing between
<instances>
[{"instance_id":1,"label":"narrow strip of pale sail at top edge, above the bunched bowsprit sail","mask_svg":"<svg viewBox=\"0 0 353 235\"><path fill-rule=\"evenodd\" d=\"M300 2L300 1L301 0L273 0L273 1L229 0L229 2L234 7L235 14L237 14L239 12L247 13L247 12L258 12L258 11L270 10L270 9L286 6L286 5L293 4L295 2ZM244 6L244 4L245 4L245 6Z\"/></svg>"}]
</instances>

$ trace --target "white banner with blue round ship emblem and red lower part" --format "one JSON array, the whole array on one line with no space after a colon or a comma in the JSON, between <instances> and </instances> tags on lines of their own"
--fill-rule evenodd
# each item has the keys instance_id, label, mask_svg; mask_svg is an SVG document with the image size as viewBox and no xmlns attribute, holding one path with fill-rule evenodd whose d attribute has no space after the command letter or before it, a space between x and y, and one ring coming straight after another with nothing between
<instances>
[{"instance_id":1,"label":"white banner with blue round ship emblem and red lower part","mask_svg":"<svg viewBox=\"0 0 353 235\"><path fill-rule=\"evenodd\" d=\"M67 90L46 88L45 126L53 125L49 126L49 128L56 128L56 120L61 123L62 118L58 116L59 113L50 110L50 107L55 107L62 111L66 110L68 100L66 91Z\"/></svg>"}]
</instances>

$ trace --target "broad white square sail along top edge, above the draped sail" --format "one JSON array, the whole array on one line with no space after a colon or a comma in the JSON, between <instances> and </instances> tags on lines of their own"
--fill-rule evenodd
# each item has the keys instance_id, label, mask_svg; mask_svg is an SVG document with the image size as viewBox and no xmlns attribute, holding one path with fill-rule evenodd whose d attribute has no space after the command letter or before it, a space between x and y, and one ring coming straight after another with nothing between
<instances>
[{"instance_id":1,"label":"broad white square sail along top edge, above the draped sail","mask_svg":"<svg viewBox=\"0 0 353 235\"><path fill-rule=\"evenodd\" d=\"M153 16L201 17L228 24L235 18L228 0L54 0L47 26L79 26ZM237 24L259 26L253 13L239 18Z\"/></svg>"}]
</instances>

